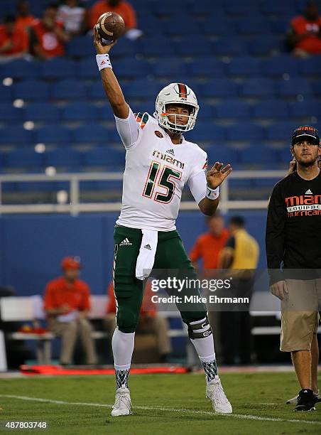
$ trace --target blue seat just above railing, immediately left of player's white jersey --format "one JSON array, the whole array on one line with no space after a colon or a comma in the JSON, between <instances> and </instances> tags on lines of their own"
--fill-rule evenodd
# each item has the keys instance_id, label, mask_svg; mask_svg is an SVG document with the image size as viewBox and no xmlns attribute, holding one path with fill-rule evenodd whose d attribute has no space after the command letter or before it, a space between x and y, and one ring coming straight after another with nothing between
<instances>
[{"instance_id":1,"label":"blue seat just above railing, immediately left of player's white jersey","mask_svg":"<svg viewBox=\"0 0 321 435\"><path fill-rule=\"evenodd\" d=\"M110 146L101 146L99 148L87 151L84 154L85 166L124 166L125 150L113 149Z\"/></svg>"}]
</instances>

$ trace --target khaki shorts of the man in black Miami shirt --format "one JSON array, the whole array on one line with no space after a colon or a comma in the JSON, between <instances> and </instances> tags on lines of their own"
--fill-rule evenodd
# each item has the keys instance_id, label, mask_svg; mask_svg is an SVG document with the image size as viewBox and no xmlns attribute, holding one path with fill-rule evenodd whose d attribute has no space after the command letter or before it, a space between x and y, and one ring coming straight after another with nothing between
<instances>
[{"instance_id":1,"label":"khaki shorts of the man in black Miami shirt","mask_svg":"<svg viewBox=\"0 0 321 435\"><path fill-rule=\"evenodd\" d=\"M321 306L321 279L287 279L288 297L281 301L282 352L311 350Z\"/></svg>"}]
</instances>

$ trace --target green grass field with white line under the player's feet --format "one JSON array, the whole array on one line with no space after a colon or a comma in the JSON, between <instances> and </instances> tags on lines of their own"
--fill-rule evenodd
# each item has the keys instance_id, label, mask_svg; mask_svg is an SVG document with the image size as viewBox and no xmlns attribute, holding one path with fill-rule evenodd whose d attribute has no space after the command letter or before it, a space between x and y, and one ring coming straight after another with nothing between
<instances>
[{"instance_id":1,"label":"green grass field with white line under the player's feet","mask_svg":"<svg viewBox=\"0 0 321 435\"><path fill-rule=\"evenodd\" d=\"M116 418L110 417L111 376L1 379L0 420L47 421L49 428L42 432L57 435L321 434L321 404L305 413L285 404L298 391L293 373L228 373L221 379L232 416L212 414L204 376L188 374L132 375L134 414Z\"/></svg>"}]
</instances>

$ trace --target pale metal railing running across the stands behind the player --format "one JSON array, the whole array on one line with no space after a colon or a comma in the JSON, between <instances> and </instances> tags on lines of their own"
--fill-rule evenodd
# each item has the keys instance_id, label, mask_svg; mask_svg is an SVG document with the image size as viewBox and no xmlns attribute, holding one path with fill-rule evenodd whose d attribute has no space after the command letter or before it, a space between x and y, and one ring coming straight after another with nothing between
<instances>
[{"instance_id":1,"label":"pale metal railing running across the stands behind the player","mask_svg":"<svg viewBox=\"0 0 321 435\"><path fill-rule=\"evenodd\" d=\"M227 178L220 188L219 208L222 212L229 210L260 210L268 205L267 200L230 200L229 180L245 178L283 178L285 171L234 171ZM0 214L14 213L70 213L76 216L85 212L118 212L121 203L80 203L80 182L81 181L121 181L122 172L109 173L60 173L54 176L43 174L10 174L0 176ZM55 182L67 181L70 183L69 198L67 204L2 204L2 186L4 183L18 182ZM197 210L195 201L182 201L180 210Z\"/></svg>"}]
</instances>

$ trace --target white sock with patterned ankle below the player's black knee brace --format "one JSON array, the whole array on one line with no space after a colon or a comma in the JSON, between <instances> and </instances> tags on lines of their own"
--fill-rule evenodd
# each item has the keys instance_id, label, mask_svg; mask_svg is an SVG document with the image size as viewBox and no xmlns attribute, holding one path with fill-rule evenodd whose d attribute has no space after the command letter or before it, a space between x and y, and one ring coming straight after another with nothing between
<instances>
[{"instance_id":1,"label":"white sock with patterned ankle below the player's black knee brace","mask_svg":"<svg viewBox=\"0 0 321 435\"><path fill-rule=\"evenodd\" d=\"M206 319L203 318L200 321L191 322L191 325L197 325L198 323L204 323ZM205 328L200 328L195 330L196 333L206 332L210 329L210 324L207 324ZM198 358L200 358L200 362L205 371L207 382L211 382L212 380L219 379L219 375L217 374L217 363L215 358L215 350L214 350L214 340L213 334L207 335L207 337L190 339L192 344L195 347Z\"/></svg>"}]
</instances>

